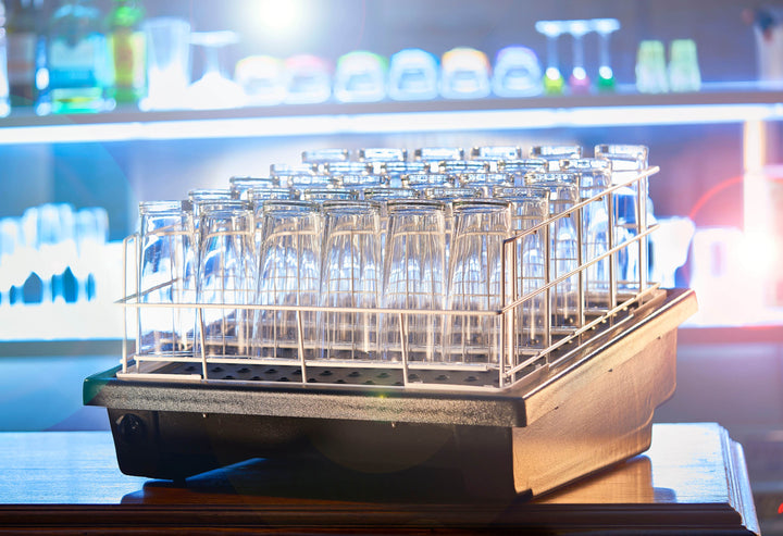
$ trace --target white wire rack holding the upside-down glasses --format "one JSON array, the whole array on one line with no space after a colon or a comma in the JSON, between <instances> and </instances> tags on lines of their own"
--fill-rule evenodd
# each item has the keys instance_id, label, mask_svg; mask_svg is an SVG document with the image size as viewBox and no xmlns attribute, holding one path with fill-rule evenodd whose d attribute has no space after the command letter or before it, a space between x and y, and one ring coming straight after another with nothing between
<instances>
[{"instance_id":1,"label":"white wire rack holding the upside-down glasses","mask_svg":"<svg viewBox=\"0 0 783 536\"><path fill-rule=\"evenodd\" d=\"M279 387L284 384L304 384L309 388L328 386L343 386L345 388L362 389L378 387L388 389L413 390L449 390L449 391L481 391L501 392L515 385L527 383L539 377L547 370L560 366L564 361L574 359L580 354L580 348L587 346L594 337L618 324L618 321L633 313L633 310L645 303L656 294L659 285L647 281L645 270L637 270L636 281L619 281L617 258L621 254L633 254L636 265L647 264L648 236L657 226L646 226L646 208L644 202L635 207L635 222L639 225L634 234L619 244L616 239L616 228L622 222L616 221L614 194L621 188L636 188L636 191L646 192L648 177L658 173L657 166L651 166L634 178L622 184L612 185L600 194L574 203L568 211L551 215L540 223L523 230L502 241L500 255L500 296L502 306L498 309L487 310L410 310L385 308L358 307L314 307L314 306L260 306L248 303L199 303L187 292L172 292L171 302L146 302L145 296L159 291L166 286L175 287L179 282L171 281L152 288L140 288L140 240L138 234L130 235L124 240L125 270L124 295L117 301L124 307L125 337L123 339L123 354L121 370L116 373L119 379L145 382L208 382L232 384L243 383L252 388L263 388L265 385ZM641 199L644 199L639 197ZM588 260L582 259L582 211L591 203L606 202L608 207L608 248L602 254ZM579 215L576 223L577 238L577 266L567 273L555 277L550 270L550 241L547 233L550 226L559 219ZM545 278L535 289L523 292L521 251L522 242L534 234L542 234L542 244L545 249ZM608 262L607 262L608 260ZM605 261L608 264L608 306L596 311L585 307L586 292L584 279L591 266ZM551 298L558 285L568 279L577 279L579 299L575 312L574 326L562 329L551 325ZM251 291L247 290L248 296ZM543 299L542 299L543 297ZM523 336L521 323L527 314L530 304L538 299L544 307L542 315L540 338L532 345ZM248 299L237 301L251 301ZM190 319L194 328L188 334L191 345L185 350L171 351L138 351L142 347L139 339L139 322L146 311L162 310L179 320ZM226 314L225 311L231 313ZM224 320L222 332L224 336L217 345L206 339L206 319L215 316L216 311L223 312L223 319L232 319L232 327ZM160 312L160 311L159 311ZM236 344L236 326L240 325L237 319L258 319L266 313L274 317L284 317L287 321L288 337L286 340L272 341L274 351L259 351L259 346L269 350L269 342ZM234 315L234 316L232 316ZM217 315L221 316L221 315ZM326 356L318 338L312 336L313 331L323 328L328 319L372 319L377 326L393 325L399 331L399 341L396 352L377 356L368 356L361 352L339 352L337 357ZM428 322L418 322L419 325L437 326L471 326L475 333L476 326L487 327L487 335L493 338L492 351L486 350L482 341L472 340L471 337L458 338L447 341L440 332L437 337L440 344L439 356L460 354L463 359L422 359L417 348L409 341L409 325L427 319ZM201 326L201 328L197 328ZM378 327L381 329L381 327ZM277 333L275 329L272 333ZM378 337L378 334L376 334ZM484 341L485 342L485 341ZM457 345L457 346L456 346ZM393 359L383 359L383 356L394 356Z\"/></svg>"}]
</instances>

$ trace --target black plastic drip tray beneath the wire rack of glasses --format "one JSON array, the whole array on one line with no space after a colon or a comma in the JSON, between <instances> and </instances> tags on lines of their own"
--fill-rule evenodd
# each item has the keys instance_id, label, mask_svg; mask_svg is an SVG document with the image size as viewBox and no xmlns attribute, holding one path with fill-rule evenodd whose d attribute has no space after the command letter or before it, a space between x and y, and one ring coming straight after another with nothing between
<instances>
[{"instance_id":1,"label":"black plastic drip tray beneath the wire rack of glasses","mask_svg":"<svg viewBox=\"0 0 783 536\"><path fill-rule=\"evenodd\" d=\"M433 389L399 387L399 370L308 366L302 382L297 366L221 363L198 382L119 379L113 369L87 378L84 397L108 409L130 475L183 481L253 458L322 460L348 475L447 469L475 497L536 496L648 448L655 408L674 392L676 328L695 311L693 291L658 291L507 389L450 387L481 382L476 371L450 371Z\"/></svg>"}]
</instances>

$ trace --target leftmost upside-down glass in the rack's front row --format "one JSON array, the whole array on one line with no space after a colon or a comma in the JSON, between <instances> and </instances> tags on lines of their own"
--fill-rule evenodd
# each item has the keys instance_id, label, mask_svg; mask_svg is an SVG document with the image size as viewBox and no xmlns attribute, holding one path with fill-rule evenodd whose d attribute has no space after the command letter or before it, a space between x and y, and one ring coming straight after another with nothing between
<instances>
[{"instance_id":1,"label":"leftmost upside-down glass in the rack's front row","mask_svg":"<svg viewBox=\"0 0 783 536\"><path fill-rule=\"evenodd\" d=\"M194 349L195 314L192 310L175 307L196 301L196 273L187 272L196 254L192 238L189 201L139 203L138 301L158 306L138 310L138 352L141 354Z\"/></svg>"}]
</instances>

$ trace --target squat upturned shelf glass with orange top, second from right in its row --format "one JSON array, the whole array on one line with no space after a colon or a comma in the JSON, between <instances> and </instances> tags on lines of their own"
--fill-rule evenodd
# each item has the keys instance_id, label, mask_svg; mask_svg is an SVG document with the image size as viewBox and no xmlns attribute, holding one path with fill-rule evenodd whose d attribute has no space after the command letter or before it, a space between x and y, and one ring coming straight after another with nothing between
<instances>
[{"instance_id":1,"label":"squat upturned shelf glass with orange top, second from right in its row","mask_svg":"<svg viewBox=\"0 0 783 536\"><path fill-rule=\"evenodd\" d=\"M489 96L489 61L484 52L457 47L440 60L440 95L445 99L482 99Z\"/></svg>"}]
</instances>

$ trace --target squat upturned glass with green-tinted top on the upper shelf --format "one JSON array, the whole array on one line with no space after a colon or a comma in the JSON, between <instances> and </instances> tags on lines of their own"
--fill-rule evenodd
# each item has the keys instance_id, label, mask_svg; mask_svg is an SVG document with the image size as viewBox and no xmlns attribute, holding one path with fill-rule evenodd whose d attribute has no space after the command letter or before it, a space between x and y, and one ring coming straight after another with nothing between
<instances>
[{"instance_id":1,"label":"squat upturned glass with green-tinted top on the upper shelf","mask_svg":"<svg viewBox=\"0 0 783 536\"><path fill-rule=\"evenodd\" d=\"M386 58L355 50L337 60L334 96L339 102L377 102L386 97Z\"/></svg>"}]
</instances>

